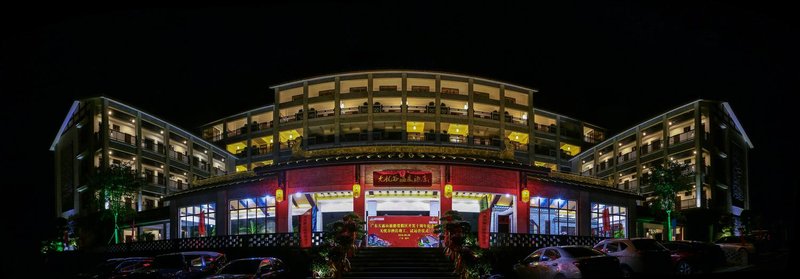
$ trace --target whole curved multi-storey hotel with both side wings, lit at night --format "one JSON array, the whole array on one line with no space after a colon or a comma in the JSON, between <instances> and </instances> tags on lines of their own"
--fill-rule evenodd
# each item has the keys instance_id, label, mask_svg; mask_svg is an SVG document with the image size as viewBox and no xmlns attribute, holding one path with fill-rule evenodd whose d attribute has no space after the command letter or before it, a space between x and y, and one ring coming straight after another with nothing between
<instances>
[{"instance_id":1,"label":"whole curved multi-storey hotel with both side wings, lit at night","mask_svg":"<svg viewBox=\"0 0 800 279\"><path fill-rule=\"evenodd\" d=\"M371 71L271 89L274 104L199 136L107 98L76 102L51 148L58 213L79 211L88 173L125 160L156 182L132 204L161 207L150 221L159 239L297 232L303 214L320 231L349 212L448 210L473 229L489 210L495 233L644 235L636 208L649 190L636 181L664 159L704 162L702 187L682 200L747 208L751 145L726 103L693 102L607 137L535 107L535 89L478 77Z\"/></svg>"}]
</instances>

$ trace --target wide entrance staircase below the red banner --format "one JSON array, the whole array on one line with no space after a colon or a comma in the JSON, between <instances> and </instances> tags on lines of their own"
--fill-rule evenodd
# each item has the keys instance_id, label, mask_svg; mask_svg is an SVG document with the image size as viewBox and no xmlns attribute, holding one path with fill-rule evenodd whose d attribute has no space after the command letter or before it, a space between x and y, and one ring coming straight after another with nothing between
<instances>
[{"instance_id":1,"label":"wide entrance staircase below the red banner","mask_svg":"<svg viewBox=\"0 0 800 279\"><path fill-rule=\"evenodd\" d=\"M344 278L458 278L439 248L362 248Z\"/></svg>"}]
</instances>

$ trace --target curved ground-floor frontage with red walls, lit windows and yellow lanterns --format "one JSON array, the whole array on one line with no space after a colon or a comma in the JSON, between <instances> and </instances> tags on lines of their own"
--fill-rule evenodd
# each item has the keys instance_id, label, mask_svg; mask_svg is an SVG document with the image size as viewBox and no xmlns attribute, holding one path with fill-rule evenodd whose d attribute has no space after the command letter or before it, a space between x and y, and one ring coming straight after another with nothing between
<instances>
[{"instance_id":1,"label":"curved ground-floor frontage with red walls, lit windows and yellow lanterns","mask_svg":"<svg viewBox=\"0 0 800 279\"><path fill-rule=\"evenodd\" d=\"M301 223L318 232L352 212L368 221L372 246L424 246L450 210L473 231L485 212L490 232L632 236L639 196L546 171L381 163L275 169L169 199L170 238L299 232Z\"/></svg>"}]
</instances>

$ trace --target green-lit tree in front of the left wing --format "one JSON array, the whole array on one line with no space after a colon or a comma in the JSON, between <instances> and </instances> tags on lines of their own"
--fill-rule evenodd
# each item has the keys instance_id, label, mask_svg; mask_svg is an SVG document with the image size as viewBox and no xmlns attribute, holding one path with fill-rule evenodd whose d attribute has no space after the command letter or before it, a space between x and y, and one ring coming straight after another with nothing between
<instances>
[{"instance_id":1,"label":"green-lit tree in front of the left wing","mask_svg":"<svg viewBox=\"0 0 800 279\"><path fill-rule=\"evenodd\" d=\"M119 243L119 220L135 212L125 199L133 200L142 185L142 179L130 164L113 164L89 180L89 190L95 193L92 196L97 208L103 211L103 216L114 220L112 239L115 244Z\"/></svg>"}]
</instances>

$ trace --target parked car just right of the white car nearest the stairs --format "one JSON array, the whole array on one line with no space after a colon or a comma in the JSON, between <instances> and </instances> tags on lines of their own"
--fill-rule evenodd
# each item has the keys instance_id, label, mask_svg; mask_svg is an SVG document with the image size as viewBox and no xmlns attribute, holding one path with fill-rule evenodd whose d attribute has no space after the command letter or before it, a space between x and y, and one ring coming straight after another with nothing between
<instances>
[{"instance_id":1,"label":"parked car just right of the white car nearest the stairs","mask_svg":"<svg viewBox=\"0 0 800 279\"><path fill-rule=\"evenodd\" d=\"M606 239L594 248L617 257L623 277L631 277L634 273L667 274L670 271L670 252L654 239Z\"/></svg>"}]
</instances>

